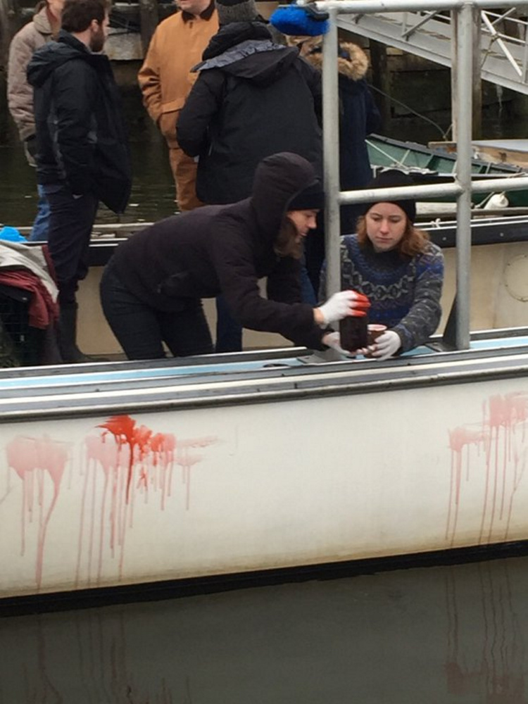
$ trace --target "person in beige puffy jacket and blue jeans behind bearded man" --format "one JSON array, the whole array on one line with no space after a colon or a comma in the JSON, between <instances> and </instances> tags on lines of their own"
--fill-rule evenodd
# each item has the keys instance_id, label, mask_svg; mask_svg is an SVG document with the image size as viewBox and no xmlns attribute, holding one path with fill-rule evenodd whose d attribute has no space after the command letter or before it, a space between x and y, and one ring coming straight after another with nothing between
<instances>
[{"instance_id":1,"label":"person in beige puffy jacket and blue jeans behind bearded man","mask_svg":"<svg viewBox=\"0 0 528 704\"><path fill-rule=\"evenodd\" d=\"M36 49L56 39L61 29L61 13L64 0L42 0L35 9L31 22L17 32L9 45L9 60L7 68L7 100L9 112L15 121L24 144L27 163L35 168L37 164L34 155L37 151L35 134L33 89L27 82L27 64ZM34 220L29 239L45 241L48 239L49 204L41 184L37 184L39 200L37 202L37 217Z\"/></svg>"}]
</instances>

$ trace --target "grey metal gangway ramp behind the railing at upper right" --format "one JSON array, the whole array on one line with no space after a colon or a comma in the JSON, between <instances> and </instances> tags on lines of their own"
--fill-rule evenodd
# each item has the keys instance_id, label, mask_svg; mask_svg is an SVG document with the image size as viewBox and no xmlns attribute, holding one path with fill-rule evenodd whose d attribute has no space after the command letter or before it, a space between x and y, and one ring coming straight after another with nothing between
<instances>
[{"instance_id":1,"label":"grey metal gangway ramp behind the railing at upper right","mask_svg":"<svg viewBox=\"0 0 528 704\"><path fill-rule=\"evenodd\" d=\"M527 20L516 8L480 11L481 75L491 83L528 95ZM337 26L451 68L453 25L449 11L340 14Z\"/></svg>"}]
</instances>

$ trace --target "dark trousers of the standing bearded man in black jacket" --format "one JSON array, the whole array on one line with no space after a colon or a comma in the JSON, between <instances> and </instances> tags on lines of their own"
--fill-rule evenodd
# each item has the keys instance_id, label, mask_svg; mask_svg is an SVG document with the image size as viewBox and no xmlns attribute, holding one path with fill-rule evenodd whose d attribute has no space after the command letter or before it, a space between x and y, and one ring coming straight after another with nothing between
<instances>
[{"instance_id":1,"label":"dark trousers of the standing bearded man in black jacket","mask_svg":"<svg viewBox=\"0 0 528 704\"><path fill-rule=\"evenodd\" d=\"M74 198L65 184L45 184L49 203L48 246L58 285L58 302L75 303L78 283L88 273L88 251L98 199L87 193Z\"/></svg>"}]
</instances>

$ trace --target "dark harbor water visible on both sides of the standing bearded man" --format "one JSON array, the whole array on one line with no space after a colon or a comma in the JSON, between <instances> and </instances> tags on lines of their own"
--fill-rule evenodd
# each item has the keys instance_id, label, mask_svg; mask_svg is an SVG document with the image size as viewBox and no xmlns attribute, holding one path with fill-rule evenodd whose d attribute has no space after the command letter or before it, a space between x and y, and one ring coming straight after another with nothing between
<instances>
[{"instance_id":1,"label":"dark harbor water visible on both sides of the standing bearded man","mask_svg":"<svg viewBox=\"0 0 528 704\"><path fill-rule=\"evenodd\" d=\"M125 215L99 208L97 222L161 220L176 210L167 148L161 139L132 142L132 195ZM37 213L34 170L27 165L21 146L0 149L0 223L24 227Z\"/></svg>"}]
</instances>

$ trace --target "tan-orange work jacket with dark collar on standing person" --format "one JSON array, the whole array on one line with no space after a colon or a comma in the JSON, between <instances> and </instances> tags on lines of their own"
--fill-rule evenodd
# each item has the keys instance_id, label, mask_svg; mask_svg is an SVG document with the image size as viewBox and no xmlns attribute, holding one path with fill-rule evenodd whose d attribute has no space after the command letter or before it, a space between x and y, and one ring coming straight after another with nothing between
<instances>
[{"instance_id":1,"label":"tan-orange work jacket with dark collar on standing person","mask_svg":"<svg viewBox=\"0 0 528 704\"><path fill-rule=\"evenodd\" d=\"M203 50L216 32L215 10L209 19L184 20L184 14L178 12L163 20L153 34L138 81L144 106L169 145L177 146L177 118L198 77L191 68L201 61Z\"/></svg>"}]
</instances>

